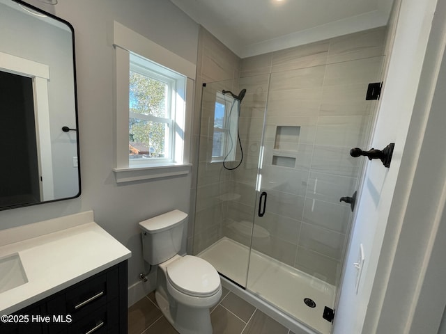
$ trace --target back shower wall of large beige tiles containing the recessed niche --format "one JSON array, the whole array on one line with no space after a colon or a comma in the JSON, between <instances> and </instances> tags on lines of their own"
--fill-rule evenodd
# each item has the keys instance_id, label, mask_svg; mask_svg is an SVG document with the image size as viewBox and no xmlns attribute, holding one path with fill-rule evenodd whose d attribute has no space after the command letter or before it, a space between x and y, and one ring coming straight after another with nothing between
<instances>
[{"instance_id":1,"label":"back shower wall of large beige tiles containing the recessed niche","mask_svg":"<svg viewBox=\"0 0 446 334\"><path fill-rule=\"evenodd\" d=\"M270 236L268 242L254 237L252 246L333 285L351 228L350 206L339 198L357 189L362 164L348 152L367 145L377 102L365 94L369 83L380 81L384 47L383 28L243 59L238 84L247 95L239 131L246 161L224 179L224 191L241 196L226 203L227 211L209 211L222 212L226 226L253 221L268 96L260 171L268 211L256 218L254 234L266 230ZM223 233L249 246L249 238L231 228Z\"/></svg>"}]
</instances>

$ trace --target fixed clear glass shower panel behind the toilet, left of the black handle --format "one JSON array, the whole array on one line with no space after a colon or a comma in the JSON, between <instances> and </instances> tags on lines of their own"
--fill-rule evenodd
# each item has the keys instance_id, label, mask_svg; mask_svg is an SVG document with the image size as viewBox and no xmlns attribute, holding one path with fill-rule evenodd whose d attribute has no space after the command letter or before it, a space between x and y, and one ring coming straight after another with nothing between
<instances>
[{"instance_id":1,"label":"fixed clear glass shower panel behind the toilet, left of the black handle","mask_svg":"<svg viewBox=\"0 0 446 334\"><path fill-rule=\"evenodd\" d=\"M194 255L245 287L269 74L203 86Z\"/></svg>"}]
</instances>

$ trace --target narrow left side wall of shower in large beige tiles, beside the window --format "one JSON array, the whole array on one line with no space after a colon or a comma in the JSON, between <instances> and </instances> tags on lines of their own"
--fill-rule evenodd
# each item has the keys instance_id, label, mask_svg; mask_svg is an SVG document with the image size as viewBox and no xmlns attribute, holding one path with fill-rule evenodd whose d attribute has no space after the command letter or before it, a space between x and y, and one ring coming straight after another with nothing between
<instances>
[{"instance_id":1,"label":"narrow left side wall of shower in large beige tiles, beside the window","mask_svg":"<svg viewBox=\"0 0 446 334\"><path fill-rule=\"evenodd\" d=\"M187 234L189 254L197 254L223 237L221 226L224 216L222 201L218 197L229 186L228 171L222 168L222 163L211 163L208 159L210 151L206 152L209 147L206 143L212 138L210 130L213 129L213 121L210 122L210 116L206 112L201 113L201 86L203 83L224 80L228 86L223 88L232 89L239 76L240 58L200 27L192 136L191 206ZM205 118L203 122L202 117ZM209 125L209 128L203 128L202 125Z\"/></svg>"}]
</instances>

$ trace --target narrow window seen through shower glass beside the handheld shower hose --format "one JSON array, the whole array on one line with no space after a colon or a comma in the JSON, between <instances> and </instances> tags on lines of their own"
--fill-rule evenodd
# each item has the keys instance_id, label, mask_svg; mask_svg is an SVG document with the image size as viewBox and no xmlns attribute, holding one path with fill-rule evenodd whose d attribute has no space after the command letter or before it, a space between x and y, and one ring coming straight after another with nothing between
<instances>
[{"instance_id":1,"label":"narrow window seen through shower glass beside the handheld shower hose","mask_svg":"<svg viewBox=\"0 0 446 334\"><path fill-rule=\"evenodd\" d=\"M236 159L239 108L238 100L217 92L214 109L212 162Z\"/></svg>"}]
</instances>

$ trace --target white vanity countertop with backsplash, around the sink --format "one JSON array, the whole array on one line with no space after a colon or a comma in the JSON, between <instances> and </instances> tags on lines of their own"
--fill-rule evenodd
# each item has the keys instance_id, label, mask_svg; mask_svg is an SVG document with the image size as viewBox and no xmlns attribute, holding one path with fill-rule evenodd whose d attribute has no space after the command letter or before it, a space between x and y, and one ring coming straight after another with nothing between
<instances>
[{"instance_id":1,"label":"white vanity countertop with backsplash, around the sink","mask_svg":"<svg viewBox=\"0 0 446 334\"><path fill-rule=\"evenodd\" d=\"M20 310L131 256L130 250L93 221L93 212L1 230L0 259L16 253L28 282L0 293L0 315Z\"/></svg>"}]
</instances>

